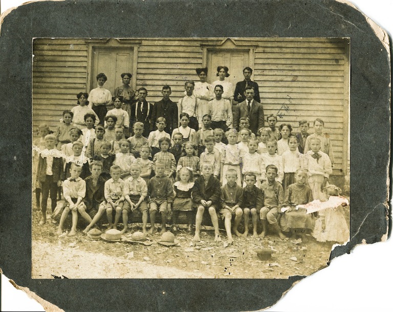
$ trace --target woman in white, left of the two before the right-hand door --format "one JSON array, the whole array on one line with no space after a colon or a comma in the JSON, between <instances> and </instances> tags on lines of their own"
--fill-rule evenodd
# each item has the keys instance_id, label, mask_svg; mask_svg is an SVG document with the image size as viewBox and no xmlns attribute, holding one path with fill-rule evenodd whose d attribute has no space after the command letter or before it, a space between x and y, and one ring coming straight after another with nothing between
<instances>
[{"instance_id":1,"label":"woman in white, left of the two before the right-hand door","mask_svg":"<svg viewBox=\"0 0 393 312\"><path fill-rule=\"evenodd\" d=\"M199 128L203 128L202 118L209 112L208 102L214 98L213 87L206 81L207 68L197 68L197 75L200 81L195 82L194 95L200 99L198 107Z\"/></svg>"}]
</instances>

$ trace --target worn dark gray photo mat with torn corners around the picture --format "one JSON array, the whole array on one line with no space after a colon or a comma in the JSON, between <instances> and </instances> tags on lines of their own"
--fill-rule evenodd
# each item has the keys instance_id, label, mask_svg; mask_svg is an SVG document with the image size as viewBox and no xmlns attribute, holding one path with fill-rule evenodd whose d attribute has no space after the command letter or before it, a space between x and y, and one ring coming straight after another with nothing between
<instances>
[{"instance_id":1,"label":"worn dark gray photo mat with torn corners around the picture","mask_svg":"<svg viewBox=\"0 0 393 312\"><path fill-rule=\"evenodd\" d=\"M273 305L304 278L32 279L32 41L36 37L350 38L351 241L336 247L331 259L349 253L362 241L378 242L386 234L390 62L361 12L330 0L38 2L10 12L0 33L0 267L16 284L67 311L244 311Z\"/></svg>"}]
</instances>

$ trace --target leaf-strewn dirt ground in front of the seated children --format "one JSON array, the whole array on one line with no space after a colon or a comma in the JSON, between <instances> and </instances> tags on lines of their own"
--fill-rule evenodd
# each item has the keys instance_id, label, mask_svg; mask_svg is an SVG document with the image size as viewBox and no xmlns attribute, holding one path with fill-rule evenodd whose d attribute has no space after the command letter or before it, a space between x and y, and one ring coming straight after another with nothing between
<instances>
[{"instance_id":1,"label":"leaf-strewn dirt ground in front of the seated children","mask_svg":"<svg viewBox=\"0 0 393 312\"><path fill-rule=\"evenodd\" d=\"M349 212L346 213L349 218ZM76 236L58 236L57 225L38 224L40 212L32 218L32 278L288 278L308 276L326 266L332 244L320 243L309 236L308 242L233 237L234 243L214 243L212 227L201 231L201 242L192 242L185 229L176 234L177 246L157 243L160 234L151 237L150 246L126 242L88 240L81 230ZM140 223L128 225L130 235L141 231ZM270 260L261 261L256 250L273 251Z\"/></svg>"}]
</instances>

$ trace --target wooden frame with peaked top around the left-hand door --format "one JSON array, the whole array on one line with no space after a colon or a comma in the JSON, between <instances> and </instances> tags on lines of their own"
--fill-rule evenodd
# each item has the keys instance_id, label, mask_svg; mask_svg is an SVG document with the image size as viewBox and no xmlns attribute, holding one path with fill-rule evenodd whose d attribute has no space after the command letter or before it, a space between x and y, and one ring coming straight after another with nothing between
<instances>
[{"instance_id":1,"label":"wooden frame with peaked top around the left-hand door","mask_svg":"<svg viewBox=\"0 0 393 312\"><path fill-rule=\"evenodd\" d=\"M138 39L88 39L88 68L87 68L87 82L86 88L90 88L92 84L93 71L93 51L94 48L129 48L133 49L133 70L130 86L135 89L137 86L137 69L138 69L138 48L142 44L142 40ZM89 92L86 90L86 92Z\"/></svg>"}]
</instances>

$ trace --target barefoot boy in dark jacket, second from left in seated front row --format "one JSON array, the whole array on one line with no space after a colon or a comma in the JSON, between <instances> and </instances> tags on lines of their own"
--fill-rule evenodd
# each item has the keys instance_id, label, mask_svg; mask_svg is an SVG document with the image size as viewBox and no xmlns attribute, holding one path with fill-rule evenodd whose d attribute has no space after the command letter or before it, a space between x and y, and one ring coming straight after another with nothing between
<instances>
[{"instance_id":1,"label":"barefoot boy in dark jacket, second from left in seated front row","mask_svg":"<svg viewBox=\"0 0 393 312\"><path fill-rule=\"evenodd\" d=\"M83 230L85 234L90 231L105 212L105 179L101 175L102 168L102 162L94 160L90 165L92 175L84 179L86 181L86 196L83 199L84 207L80 207L78 211L89 222L89 225Z\"/></svg>"}]
</instances>

